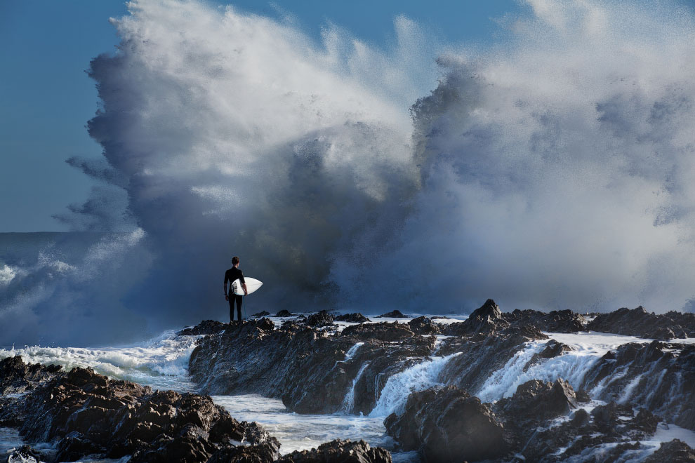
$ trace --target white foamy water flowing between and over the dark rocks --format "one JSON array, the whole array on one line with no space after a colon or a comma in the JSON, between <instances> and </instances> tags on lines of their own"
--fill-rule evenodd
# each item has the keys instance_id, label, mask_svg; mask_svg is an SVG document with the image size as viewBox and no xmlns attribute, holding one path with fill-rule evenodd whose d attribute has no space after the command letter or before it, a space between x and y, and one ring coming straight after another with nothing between
<instances>
[{"instance_id":1,"label":"white foamy water flowing between and over the dark rocks","mask_svg":"<svg viewBox=\"0 0 695 463\"><path fill-rule=\"evenodd\" d=\"M410 319L399 318L390 321L406 323ZM284 320L274 318L274 321L277 323ZM373 322L377 321L383 321L383 319L373 319ZM344 328L350 324L340 323L340 327ZM528 358L542 349L545 344L545 342L529 342L510 359L504 368L492 372L476 395L484 401L495 401L498 398L510 396L519 384L529 379L552 381L557 377L564 377L574 385L581 382L581 375L586 368L610 349L626 342L651 342L651 340L636 337L592 332L546 334L555 340L571 345L576 350L548 359L524 371L523 365ZM91 367L108 377L138 382L154 389L195 391L194 384L187 375L187 365L197 338L197 336L177 336L170 330L152 340L117 347L34 346L22 349L0 349L0 358L20 355L25 362L55 363L65 368ZM695 342L695 340L682 341ZM361 345L361 343L355 344L346 353L346 358L355 356ZM282 444L281 452L283 453L315 448L321 443L336 438L364 439L370 445L383 446L392 450L395 443L385 434L383 426L385 416L402 410L407 394L441 384L439 373L446 368L447 361L457 355L460 354L432 356L402 373L393 375L380 391L375 408L366 416L349 413L349 406L342 412L331 415L298 415L287 410L282 401L254 394L213 396L213 400L228 410L237 420L256 421L262 424L270 434L278 438ZM344 404L350 403L349 394L350 392L346 395ZM585 407L590 410L599 403L602 402L595 401ZM562 417L558 419L558 422L565 419L567 417ZM689 445L695 446L693 431L674 424L661 423L656 435L649 441L643 442L647 447L628 455L629 458L626 461L641 462L651 455L661 442L670 441L673 438L680 438ZM15 430L0 428L0 452L6 452L21 444L22 440ZM602 452L609 447L610 445L605 445L595 449L595 452ZM46 448L44 444L44 450ZM419 461L416 452L393 452L393 457L396 462ZM112 462L113 460L102 461Z\"/></svg>"}]
</instances>

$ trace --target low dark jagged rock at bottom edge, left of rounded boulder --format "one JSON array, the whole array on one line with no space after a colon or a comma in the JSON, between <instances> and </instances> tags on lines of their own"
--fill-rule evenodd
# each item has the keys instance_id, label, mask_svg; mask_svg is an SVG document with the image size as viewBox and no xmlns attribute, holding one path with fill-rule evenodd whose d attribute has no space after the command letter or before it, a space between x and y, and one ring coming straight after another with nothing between
<instances>
[{"instance_id":1,"label":"low dark jagged rock at bottom edge, left of rounded boulder","mask_svg":"<svg viewBox=\"0 0 695 463\"><path fill-rule=\"evenodd\" d=\"M380 447L372 448L360 440L350 439L327 442L311 450L294 451L284 455L278 463L391 463L391 454Z\"/></svg>"}]
</instances>

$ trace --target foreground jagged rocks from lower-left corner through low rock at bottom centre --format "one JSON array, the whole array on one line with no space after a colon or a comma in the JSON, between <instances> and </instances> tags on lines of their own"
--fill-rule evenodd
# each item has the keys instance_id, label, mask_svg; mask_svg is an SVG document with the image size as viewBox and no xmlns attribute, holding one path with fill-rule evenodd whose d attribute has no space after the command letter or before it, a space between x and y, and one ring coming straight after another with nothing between
<instances>
[{"instance_id":1,"label":"foreground jagged rocks from lower-left corner through low rock at bottom centre","mask_svg":"<svg viewBox=\"0 0 695 463\"><path fill-rule=\"evenodd\" d=\"M19 356L0 361L0 426L18 428L28 442L54 443L41 452L28 446L15 459L72 462L130 456L129 462L273 462L280 444L256 422L234 420L209 396L157 391L110 380L90 368L62 370L27 365ZM388 451L359 441L333 441L301 459L323 455L352 461L389 463ZM8 456L11 459L12 455ZM337 460L336 460L337 461Z\"/></svg>"}]
</instances>

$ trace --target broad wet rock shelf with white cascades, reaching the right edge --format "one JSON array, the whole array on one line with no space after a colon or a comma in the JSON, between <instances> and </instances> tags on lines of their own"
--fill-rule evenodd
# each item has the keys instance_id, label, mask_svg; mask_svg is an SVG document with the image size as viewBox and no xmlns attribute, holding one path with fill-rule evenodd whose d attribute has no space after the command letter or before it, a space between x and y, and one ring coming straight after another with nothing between
<instances>
[{"instance_id":1,"label":"broad wet rock shelf with white cascades, reaching the right edge","mask_svg":"<svg viewBox=\"0 0 695 463\"><path fill-rule=\"evenodd\" d=\"M585 333L585 316L505 313L492 300L464 321L281 321L201 338L192 380L207 394L263 394L297 413L383 417L392 450L427 462L640 462L666 428L695 430L688 340L652 341L644 331L585 347L568 341L597 336Z\"/></svg>"}]
</instances>

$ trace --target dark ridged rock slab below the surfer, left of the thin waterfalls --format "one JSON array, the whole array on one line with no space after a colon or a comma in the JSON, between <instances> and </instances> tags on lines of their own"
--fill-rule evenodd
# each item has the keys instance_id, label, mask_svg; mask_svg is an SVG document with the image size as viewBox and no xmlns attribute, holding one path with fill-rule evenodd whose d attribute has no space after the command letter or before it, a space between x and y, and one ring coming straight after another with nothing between
<instances>
[{"instance_id":1,"label":"dark ridged rock slab below the surfer, left of the thin waterfalls","mask_svg":"<svg viewBox=\"0 0 695 463\"><path fill-rule=\"evenodd\" d=\"M336 365L354 344L294 323L274 330L263 318L202 340L189 371L206 394L263 394L296 412L335 412L350 382Z\"/></svg>"}]
</instances>

